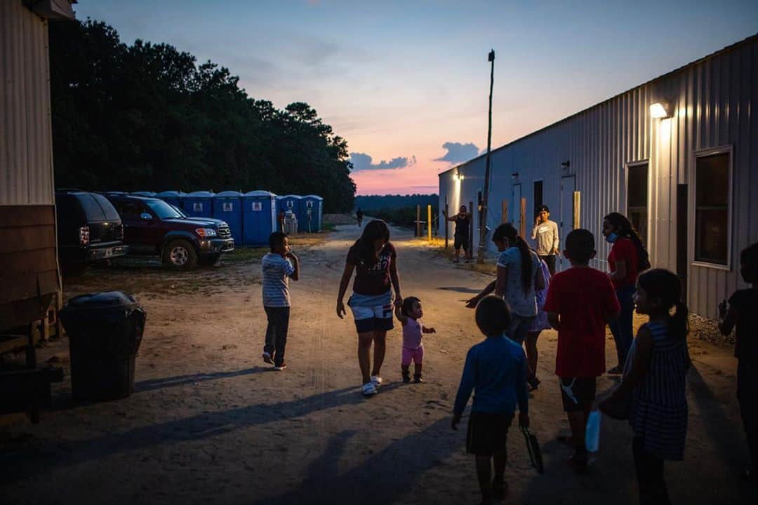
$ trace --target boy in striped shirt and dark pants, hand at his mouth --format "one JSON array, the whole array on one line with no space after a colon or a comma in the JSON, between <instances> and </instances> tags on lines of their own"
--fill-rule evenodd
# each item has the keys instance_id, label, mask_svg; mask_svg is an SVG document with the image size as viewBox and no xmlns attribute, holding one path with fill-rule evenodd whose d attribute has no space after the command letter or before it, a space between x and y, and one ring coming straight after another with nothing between
<instances>
[{"instance_id":1,"label":"boy in striped shirt and dark pants, hand at his mouth","mask_svg":"<svg viewBox=\"0 0 758 505\"><path fill-rule=\"evenodd\" d=\"M300 263L290 251L287 235L273 232L268 236L271 252L261 260L263 271L263 310L268 318L263 360L275 370L287 368L284 348L290 326L290 282L300 277Z\"/></svg>"}]
</instances>

